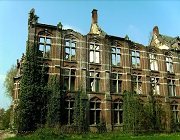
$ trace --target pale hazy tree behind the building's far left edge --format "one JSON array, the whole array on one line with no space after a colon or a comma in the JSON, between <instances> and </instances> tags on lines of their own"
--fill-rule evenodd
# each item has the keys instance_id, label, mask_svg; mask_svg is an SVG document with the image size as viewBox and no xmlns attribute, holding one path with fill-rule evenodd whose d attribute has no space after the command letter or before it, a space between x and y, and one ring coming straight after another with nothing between
<instances>
[{"instance_id":1,"label":"pale hazy tree behind the building's far left edge","mask_svg":"<svg viewBox=\"0 0 180 140\"><path fill-rule=\"evenodd\" d=\"M5 93L8 97L13 98L14 89L14 77L17 74L16 65L11 65L11 68L6 73L6 78L4 81Z\"/></svg>"}]
</instances>

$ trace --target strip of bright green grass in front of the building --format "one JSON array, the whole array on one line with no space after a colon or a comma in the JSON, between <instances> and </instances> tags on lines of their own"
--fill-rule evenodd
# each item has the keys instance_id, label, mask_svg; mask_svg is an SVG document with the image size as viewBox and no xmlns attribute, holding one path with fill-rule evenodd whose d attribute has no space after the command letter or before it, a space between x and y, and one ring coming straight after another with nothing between
<instances>
[{"instance_id":1,"label":"strip of bright green grass in front of the building","mask_svg":"<svg viewBox=\"0 0 180 140\"><path fill-rule=\"evenodd\" d=\"M171 134L149 134L141 136L133 136L130 134L125 134L122 132L109 132L109 133L87 133L87 134L63 134L58 129L40 129L33 134L25 136L16 136L13 138L8 138L6 140L179 140L180 133L171 133Z\"/></svg>"}]
</instances>

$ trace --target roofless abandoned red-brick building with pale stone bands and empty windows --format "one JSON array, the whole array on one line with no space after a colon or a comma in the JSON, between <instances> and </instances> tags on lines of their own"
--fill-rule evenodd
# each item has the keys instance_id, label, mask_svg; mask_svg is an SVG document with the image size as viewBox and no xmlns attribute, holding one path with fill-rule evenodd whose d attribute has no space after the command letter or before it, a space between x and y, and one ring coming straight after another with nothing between
<instances>
[{"instance_id":1,"label":"roofless abandoned red-brick building with pale stone bands and empty windows","mask_svg":"<svg viewBox=\"0 0 180 140\"><path fill-rule=\"evenodd\" d=\"M34 11L29 13L28 40L38 36L39 50L48 75L60 75L63 70L67 124L72 122L71 97L81 86L87 94L90 127L103 116L109 129L122 126L122 94L139 94L142 101L150 93L173 112L179 122L180 109L180 39L162 35L157 26L152 30L149 46L135 43L128 36L118 37L104 32L98 25L97 10L92 11L92 23L87 35L72 29L36 23ZM18 75L14 78L14 101L18 101L21 69L24 56L18 61Z\"/></svg>"}]
</instances>

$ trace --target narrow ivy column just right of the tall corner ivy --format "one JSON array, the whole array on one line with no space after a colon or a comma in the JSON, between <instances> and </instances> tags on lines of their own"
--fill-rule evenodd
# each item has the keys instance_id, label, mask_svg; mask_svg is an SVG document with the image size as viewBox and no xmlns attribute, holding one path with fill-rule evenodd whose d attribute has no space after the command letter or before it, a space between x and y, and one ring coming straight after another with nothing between
<instances>
[{"instance_id":1,"label":"narrow ivy column just right of the tall corner ivy","mask_svg":"<svg viewBox=\"0 0 180 140\"><path fill-rule=\"evenodd\" d=\"M66 93L62 90L61 80L57 75L51 78L48 89L47 124L49 127L60 127L64 124L64 98Z\"/></svg>"}]
</instances>

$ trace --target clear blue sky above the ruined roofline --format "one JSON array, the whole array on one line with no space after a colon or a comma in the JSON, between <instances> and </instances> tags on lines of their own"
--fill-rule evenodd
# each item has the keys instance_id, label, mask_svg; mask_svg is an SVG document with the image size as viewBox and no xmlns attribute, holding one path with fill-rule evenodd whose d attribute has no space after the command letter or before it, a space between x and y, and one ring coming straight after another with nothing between
<instances>
[{"instance_id":1,"label":"clear blue sky above the ruined roofline","mask_svg":"<svg viewBox=\"0 0 180 140\"><path fill-rule=\"evenodd\" d=\"M159 1L0 1L0 108L7 109L10 99L4 94L6 72L25 52L28 13L35 8L39 23L57 25L87 34L91 25L91 11L98 10L98 24L107 34L129 38L148 45L154 26L160 33L180 35L180 2Z\"/></svg>"}]
</instances>

